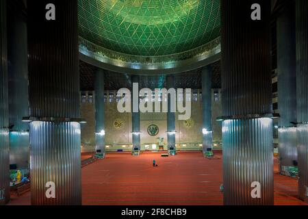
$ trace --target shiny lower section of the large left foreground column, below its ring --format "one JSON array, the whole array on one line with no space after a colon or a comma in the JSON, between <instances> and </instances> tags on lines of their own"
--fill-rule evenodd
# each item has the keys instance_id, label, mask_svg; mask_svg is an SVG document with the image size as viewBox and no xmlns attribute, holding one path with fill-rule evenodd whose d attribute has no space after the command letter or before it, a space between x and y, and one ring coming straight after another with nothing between
<instances>
[{"instance_id":1,"label":"shiny lower section of the large left foreground column, below its ring","mask_svg":"<svg viewBox=\"0 0 308 219\"><path fill-rule=\"evenodd\" d=\"M75 122L30 124L32 205L81 205L81 138Z\"/></svg>"}]
</instances>

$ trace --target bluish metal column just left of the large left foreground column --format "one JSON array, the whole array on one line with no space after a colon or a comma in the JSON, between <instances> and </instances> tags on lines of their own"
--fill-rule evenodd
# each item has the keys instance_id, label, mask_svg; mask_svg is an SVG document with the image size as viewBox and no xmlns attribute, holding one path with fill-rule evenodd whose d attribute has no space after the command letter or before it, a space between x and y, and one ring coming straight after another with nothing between
<instances>
[{"instance_id":1,"label":"bluish metal column just left of the large left foreground column","mask_svg":"<svg viewBox=\"0 0 308 219\"><path fill-rule=\"evenodd\" d=\"M27 18L21 1L10 1L8 8L10 164L29 168L29 125L22 121L29 116Z\"/></svg>"}]
</instances>

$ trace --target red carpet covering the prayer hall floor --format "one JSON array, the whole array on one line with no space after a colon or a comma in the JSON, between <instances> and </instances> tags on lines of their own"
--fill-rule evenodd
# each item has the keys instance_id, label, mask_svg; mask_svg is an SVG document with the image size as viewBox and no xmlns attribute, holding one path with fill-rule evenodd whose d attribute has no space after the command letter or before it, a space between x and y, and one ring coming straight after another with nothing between
<instances>
[{"instance_id":1,"label":"red carpet covering the prayer hall floor","mask_svg":"<svg viewBox=\"0 0 308 219\"><path fill-rule=\"evenodd\" d=\"M215 159L203 158L200 152L180 152L175 157L107 154L82 168L83 205L222 205L221 157L219 151ZM277 174L277 160L274 172L275 205L305 205L296 198L296 179ZM10 205L29 203L28 192L12 198Z\"/></svg>"}]
</instances>

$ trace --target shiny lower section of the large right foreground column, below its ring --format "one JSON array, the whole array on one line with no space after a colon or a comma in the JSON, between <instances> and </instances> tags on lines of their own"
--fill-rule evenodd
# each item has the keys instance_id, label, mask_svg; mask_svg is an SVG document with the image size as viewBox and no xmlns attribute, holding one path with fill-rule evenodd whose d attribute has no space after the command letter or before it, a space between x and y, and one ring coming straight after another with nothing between
<instances>
[{"instance_id":1,"label":"shiny lower section of the large right foreground column, below its ring","mask_svg":"<svg viewBox=\"0 0 308 219\"><path fill-rule=\"evenodd\" d=\"M272 119L224 120L224 205L274 205Z\"/></svg>"}]
</instances>

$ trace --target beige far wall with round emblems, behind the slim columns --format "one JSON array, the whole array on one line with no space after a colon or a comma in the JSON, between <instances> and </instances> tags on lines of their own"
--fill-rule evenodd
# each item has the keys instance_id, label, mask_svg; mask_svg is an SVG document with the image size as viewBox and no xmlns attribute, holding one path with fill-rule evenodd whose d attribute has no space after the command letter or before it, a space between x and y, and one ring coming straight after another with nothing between
<instances>
[{"instance_id":1,"label":"beige far wall with round emblems, behind the slim columns","mask_svg":"<svg viewBox=\"0 0 308 219\"><path fill-rule=\"evenodd\" d=\"M221 142L221 122L217 122L216 118L221 116L221 94L219 92L219 101L214 101L214 90L212 90L212 123L214 130L214 143L219 145ZM94 95L94 94L93 94ZM109 92L107 92L107 101L105 103L105 142L107 151L123 151L131 150L131 114L120 114L116 108L117 103L110 103ZM86 119L87 124L81 129L81 143L83 151L95 150L95 121L94 121L94 96L93 103L81 103L81 117ZM140 114L141 127L141 144L142 150L153 149L153 144L158 145L157 138L164 138L165 148L167 145L167 119L166 113L147 113ZM177 149L190 150L201 149L202 144L202 99L198 94L198 101L192 101L192 117L191 120L178 120L176 114L176 142ZM157 136L150 136L147 132L149 125L155 124L159 127ZM125 147L124 147L125 146ZM157 146L158 149L158 146Z\"/></svg>"}]
</instances>

